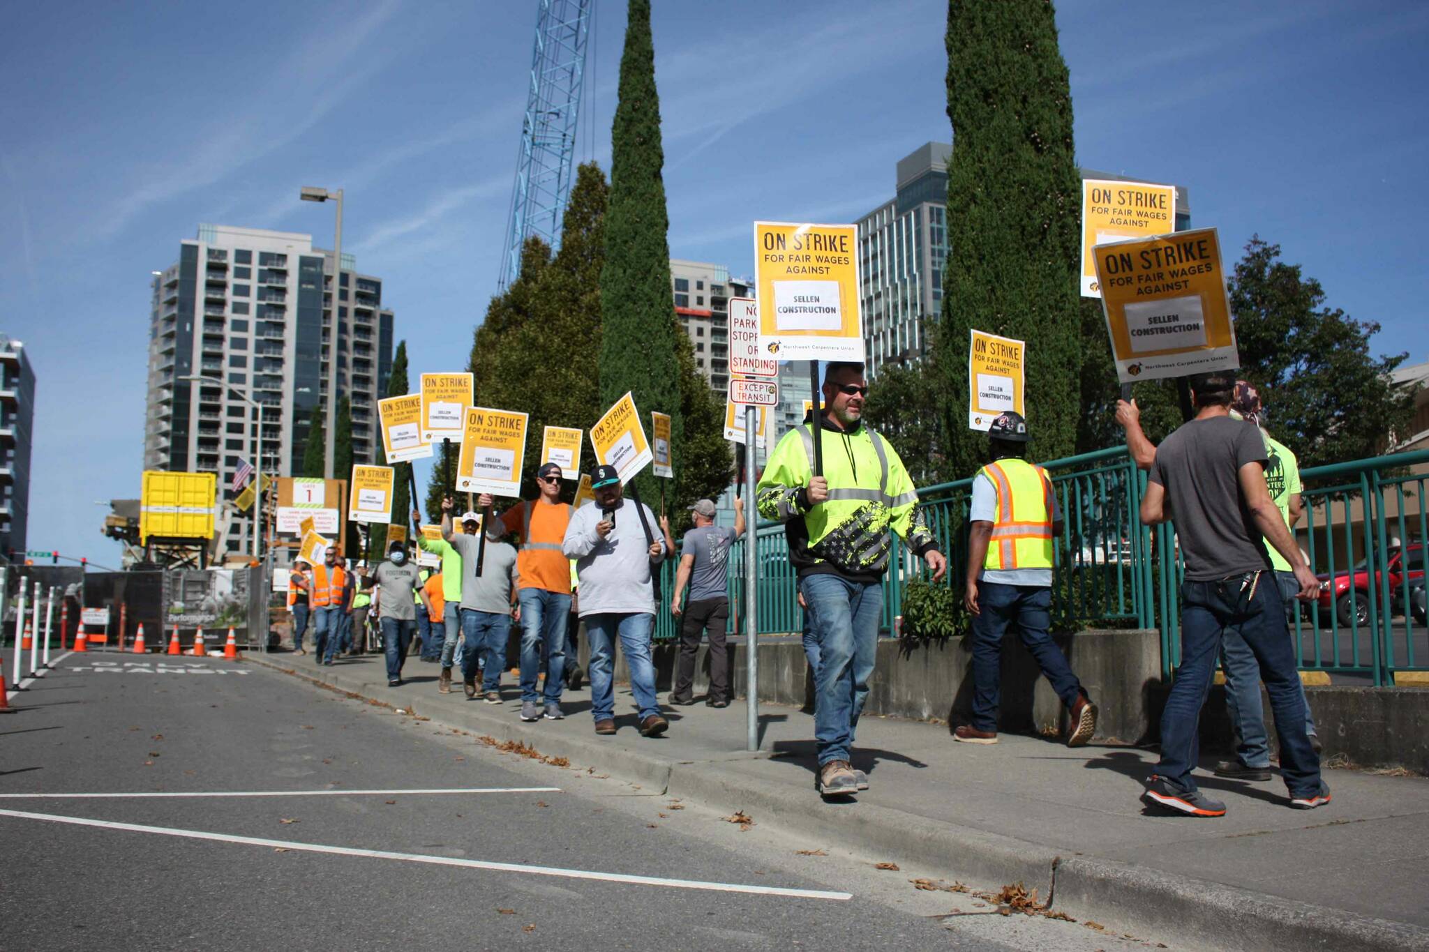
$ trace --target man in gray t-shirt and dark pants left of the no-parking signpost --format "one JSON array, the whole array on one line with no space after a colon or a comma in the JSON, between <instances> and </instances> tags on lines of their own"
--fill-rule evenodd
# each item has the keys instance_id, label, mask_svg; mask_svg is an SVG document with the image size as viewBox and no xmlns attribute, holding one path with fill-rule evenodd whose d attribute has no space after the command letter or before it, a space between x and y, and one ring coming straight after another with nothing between
<instances>
[{"instance_id":1,"label":"man in gray t-shirt and dark pants left of the no-parking signpost","mask_svg":"<svg viewBox=\"0 0 1429 952\"><path fill-rule=\"evenodd\" d=\"M709 632L710 639L710 691L712 708L729 707L729 651L725 647L725 628L729 625L729 550L745 534L745 507L735 501L735 528L714 525L714 504L700 500L690 507L694 514L694 528L684 534L680 542L680 568L674 574L674 594L670 597L670 614L680 624L680 667L670 692L670 704L686 707L694 704L694 658L700 649L700 635ZM689 604L683 602L684 587L690 588Z\"/></svg>"}]
</instances>

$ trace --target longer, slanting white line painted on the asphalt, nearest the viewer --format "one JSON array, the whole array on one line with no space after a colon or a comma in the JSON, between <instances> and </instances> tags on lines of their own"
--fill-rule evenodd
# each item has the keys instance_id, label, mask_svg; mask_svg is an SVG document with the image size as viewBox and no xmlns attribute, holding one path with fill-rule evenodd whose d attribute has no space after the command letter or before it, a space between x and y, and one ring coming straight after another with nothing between
<instances>
[{"instance_id":1,"label":"longer, slanting white line painted on the asphalt, nearest the viewer","mask_svg":"<svg viewBox=\"0 0 1429 952\"><path fill-rule=\"evenodd\" d=\"M836 899L847 901L847 892L825 892L820 889L785 889L780 886L752 886L737 882L700 882L697 879L664 879L660 876L630 876L617 872L596 872L592 869L560 869L557 866L526 866L513 862L486 862L482 859L457 859L456 856L430 856L423 854L397 854L384 849L356 849L352 846L326 846L323 844L300 844L290 839L264 839L262 836L233 836L209 834L199 829L174 829L171 826L143 826L140 824L119 824L109 819L87 819L83 816L57 816L54 814L29 814L19 809L0 809L0 816L17 819L40 819L51 824L73 824L76 826L99 826L136 834L159 834L161 836L184 836L189 839L210 839L247 846L269 846L273 849L297 849L302 852L332 854L336 856L366 856L370 859L400 859L423 862L434 866L463 866L466 869L490 869L494 872L523 872L534 876L560 876L564 879L599 879L602 882L623 882L636 886L667 886L672 889L704 889L710 892L746 892L763 896L787 896L790 899Z\"/></svg>"}]
</instances>

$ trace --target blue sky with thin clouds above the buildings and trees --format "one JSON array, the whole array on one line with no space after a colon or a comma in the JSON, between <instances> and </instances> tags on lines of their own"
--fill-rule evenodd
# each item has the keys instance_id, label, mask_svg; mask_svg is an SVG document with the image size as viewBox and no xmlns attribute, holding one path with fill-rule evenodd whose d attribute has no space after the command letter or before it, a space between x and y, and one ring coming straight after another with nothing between
<instances>
[{"instance_id":1,"label":"blue sky with thin clouds above the buildings and trees","mask_svg":"<svg viewBox=\"0 0 1429 952\"><path fill-rule=\"evenodd\" d=\"M609 168L624 4L596 0L580 158ZM946 4L659 0L670 253L753 270L755 218L847 221L952 136ZM30 547L117 562L141 467L149 273L200 221L310 231L384 278L413 373L496 285L534 3L50 3L0 34L0 330L40 378ZM1185 184L1429 358L1429 4L1066 0L1083 166Z\"/></svg>"}]
</instances>

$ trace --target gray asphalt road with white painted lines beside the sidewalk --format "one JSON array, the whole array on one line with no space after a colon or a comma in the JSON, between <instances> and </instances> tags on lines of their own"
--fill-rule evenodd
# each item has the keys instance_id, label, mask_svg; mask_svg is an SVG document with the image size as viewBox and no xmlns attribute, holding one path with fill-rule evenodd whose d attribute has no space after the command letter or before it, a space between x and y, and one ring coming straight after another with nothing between
<instances>
[{"instance_id":1,"label":"gray asphalt road with white painted lines beside the sidewalk","mask_svg":"<svg viewBox=\"0 0 1429 952\"><path fill-rule=\"evenodd\" d=\"M13 704L3 948L1155 948L253 665L70 655ZM413 792L473 788L512 792ZM176 792L217 795L136 795Z\"/></svg>"}]
</instances>

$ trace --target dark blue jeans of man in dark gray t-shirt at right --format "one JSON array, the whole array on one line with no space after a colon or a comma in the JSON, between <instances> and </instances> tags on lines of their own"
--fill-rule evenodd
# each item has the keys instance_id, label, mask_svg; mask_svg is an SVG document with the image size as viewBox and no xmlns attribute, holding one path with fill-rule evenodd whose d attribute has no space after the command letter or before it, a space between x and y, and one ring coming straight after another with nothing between
<instances>
[{"instance_id":1,"label":"dark blue jeans of man in dark gray t-shirt at right","mask_svg":"<svg viewBox=\"0 0 1429 952\"><path fill-rule=\"evenodd\" d=\"M1180 587L1180 665L1162 712L1162 756L1156 772L1187 791L1196 789L1190 772L1200 759L1200 708L1210 691L1222 638L1235 631L1255 655L1270 695L1280 735L1280 776L1290 796L1319 794L1320 759L1305 732L1305 694L1275 577L1262 572L1253 591L1242 588L1239 575L1219 582L1187 581Z\"/></svg>"}]
</instances>

